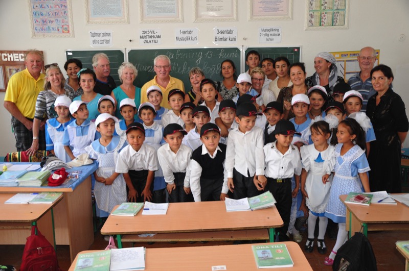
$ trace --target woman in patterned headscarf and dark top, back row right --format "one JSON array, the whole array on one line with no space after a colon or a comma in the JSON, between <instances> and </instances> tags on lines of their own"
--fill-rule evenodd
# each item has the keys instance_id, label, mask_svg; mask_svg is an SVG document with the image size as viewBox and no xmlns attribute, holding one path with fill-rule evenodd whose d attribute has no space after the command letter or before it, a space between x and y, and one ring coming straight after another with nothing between
<instances>
[{"instance_id":1,"label":"woman in patterned headscarf and dark top, back row right","mask_svg":"<svg viewBox=\"0 0 409 271\"><path fill-rule=\"evenodd\" d=\"M305 81L309 86L320 85L325 87L328 93L328 102L334 101L334 86L339 82L345 82L343 77L338 76L335 62L335 57L328 52L317 54L314 58L315 73L307 77Z\"/></svg>"}]
</instances>

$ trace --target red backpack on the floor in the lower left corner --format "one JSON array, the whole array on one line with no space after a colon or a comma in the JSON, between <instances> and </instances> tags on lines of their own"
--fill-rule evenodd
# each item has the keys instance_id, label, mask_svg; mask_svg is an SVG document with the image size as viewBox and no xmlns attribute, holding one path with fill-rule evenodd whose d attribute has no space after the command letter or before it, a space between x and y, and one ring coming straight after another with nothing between
<instances>
[{"instance_id":1,"label":"red backpack on the floor in the lower left corner","mask_svg":"<svg viewBox=\"0 0 409 271\"><path fill-rule=\"evenodd\" d=\"M37 230L37 235L35 231ZM22 254L21 271L58 271L57 255L53 245L40 233L37 226L31 227Z\"/></svg>"}]
</instances>

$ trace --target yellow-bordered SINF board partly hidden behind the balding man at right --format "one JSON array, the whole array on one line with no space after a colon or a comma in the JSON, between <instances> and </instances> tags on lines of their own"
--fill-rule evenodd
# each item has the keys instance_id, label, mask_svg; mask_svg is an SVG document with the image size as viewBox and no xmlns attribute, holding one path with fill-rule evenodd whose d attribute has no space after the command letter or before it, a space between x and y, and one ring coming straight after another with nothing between
<instances>
[{"instance_id":1,"label":"yellow-bordered SINF board partly hidden behind the balding man at right","mask_svg":"<svg viewBox=\"0 0 409 271\"><path fill-rule=\"evenodd\" d=\"M360 51L343 51L330 52L336 59L336 67L338 68L338 76L343 77L348 81L353 75L360 71L358 56ZM375 50L376 60L375 66L379 65L379 50Z\"/></svg>"}]
</instances>

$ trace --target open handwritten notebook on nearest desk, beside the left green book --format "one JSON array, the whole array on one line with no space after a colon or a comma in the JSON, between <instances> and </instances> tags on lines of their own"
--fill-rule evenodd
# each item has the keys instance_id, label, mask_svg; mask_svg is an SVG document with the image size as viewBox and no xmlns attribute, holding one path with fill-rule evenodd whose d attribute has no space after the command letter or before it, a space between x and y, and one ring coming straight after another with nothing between
<instances>
[{"instance_id":1,"label":"open handwritten notebook on nearest desk, beside the left green book","mask_svg":"<svg viewBox=\"0 0 409 271\"><path fill-rule=\"evenodd\" d=\"M111 266L109 270L143 270L145 269L144 248L127 248L111 250Z\"/></svg>"}]
</instances>

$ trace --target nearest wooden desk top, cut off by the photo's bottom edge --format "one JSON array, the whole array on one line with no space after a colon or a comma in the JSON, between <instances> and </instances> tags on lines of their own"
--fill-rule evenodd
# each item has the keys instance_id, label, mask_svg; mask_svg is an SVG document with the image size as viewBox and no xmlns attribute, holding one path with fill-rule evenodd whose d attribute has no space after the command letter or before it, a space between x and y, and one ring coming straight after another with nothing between
<instances>
[{"instance_id":1,"label":"nearest wooden desk top, cut off by the photo's bottom edge","mask_svg":"<svg viewBox=\"0 0 409 271\"><path fill-rule=\"evenodd\" d=\"M287 245L294 262L293 267L272 268L268 270L312 270L310 264L296 242L278 242L264 244ZM254 245L254 244L253 244ZM81 253L95 252L84 251ZM78 257L78 256L77 256ZM69 271L74 271L77 257ZM212 270L212 266L225 265L226 270L262 270L258 269L252 251L252 244L214 245L205 247L146 249L145 270Z\"/></svg>"}]
</instances>

